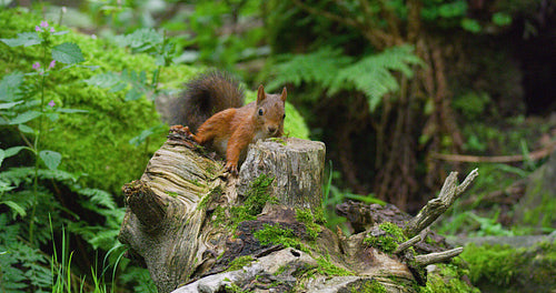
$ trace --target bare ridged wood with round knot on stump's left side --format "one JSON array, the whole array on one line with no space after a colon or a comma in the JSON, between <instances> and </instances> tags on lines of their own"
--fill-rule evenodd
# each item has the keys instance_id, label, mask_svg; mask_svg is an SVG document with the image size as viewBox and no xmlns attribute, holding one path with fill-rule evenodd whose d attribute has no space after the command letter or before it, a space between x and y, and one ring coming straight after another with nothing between
<instances>
[{"instance_id":1,"label":"bare ridged wood with round knot on stump's left side","mask_svg":"<svg viewBox=\"0 0 556 293\"><path fill-rule=\"evenodd\" d=\"M129 209L118 238L145 261L159 292L187 282L216 257L207 253L214 243L225 241L212 239L211 229L201 230L206 213L197 209L215 186L225 185L221 173L221 164L170 139L141 179L123 188Z\"/></svg>"}]
</instances>

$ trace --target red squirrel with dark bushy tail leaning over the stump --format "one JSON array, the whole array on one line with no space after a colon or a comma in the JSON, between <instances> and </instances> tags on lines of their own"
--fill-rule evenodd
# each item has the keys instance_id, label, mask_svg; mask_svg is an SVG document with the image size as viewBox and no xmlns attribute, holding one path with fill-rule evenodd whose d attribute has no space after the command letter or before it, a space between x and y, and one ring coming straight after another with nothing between
<instances>
[{"instance_id":1,"label":"red squirrel with dark bushy tail leaning over the stump","mask_svg":"<svg viewBox=\"0 0 556 293\"><path fill-rule=\"evenodd\" d=\"M183 97L173 105L177 115L172 122L187 125L186 135L197 143L211 144L226 156L226 170L237 175L249 143L284 134L286 98L286 88L281 94L269 94L259 85L257 101L241 107L244 92L238 82L212 71L187 84Z\"/></svg>"}]
</instances>

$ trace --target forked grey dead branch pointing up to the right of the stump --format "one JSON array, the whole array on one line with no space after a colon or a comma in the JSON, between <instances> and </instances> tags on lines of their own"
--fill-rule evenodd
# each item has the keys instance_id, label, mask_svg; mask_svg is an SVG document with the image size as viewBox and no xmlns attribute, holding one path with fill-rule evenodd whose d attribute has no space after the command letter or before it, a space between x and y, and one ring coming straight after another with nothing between
<instances>
[{"instance_id":1,"label":"forked grey dead branch pointing up to the right of the stump","mask_svg":"<svg viewBox=\"0 0 556 293\"><path fill-rule=\"evenodd\" d=\"M478 175L477 169L473 170L461 184L457 183L457 172L450 172L444 181L440 194L428 203L405 226L404 233L408 238L419 234L420 231L429 226L438 216L440 216L454 201L469 186L473 180Z\"/></svg>"}]
</instances>

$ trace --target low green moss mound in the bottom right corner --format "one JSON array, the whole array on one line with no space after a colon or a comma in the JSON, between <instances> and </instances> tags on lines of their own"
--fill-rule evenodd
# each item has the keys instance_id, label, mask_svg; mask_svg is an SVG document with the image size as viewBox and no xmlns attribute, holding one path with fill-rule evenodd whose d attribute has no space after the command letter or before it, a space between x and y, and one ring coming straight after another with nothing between
<instances>
[{"instance_id":1,"label":"low green moss mound in the bottom right corner","mask_svg":"<svg viewBox=\"0 0 556 293\"><path fill-rule=\"evenodd\" d=\"M523 249L470 243L461 257L469 263L473 284L481 290L544 292L556 287L556 242Z\"/></svg>"}]
</instances>

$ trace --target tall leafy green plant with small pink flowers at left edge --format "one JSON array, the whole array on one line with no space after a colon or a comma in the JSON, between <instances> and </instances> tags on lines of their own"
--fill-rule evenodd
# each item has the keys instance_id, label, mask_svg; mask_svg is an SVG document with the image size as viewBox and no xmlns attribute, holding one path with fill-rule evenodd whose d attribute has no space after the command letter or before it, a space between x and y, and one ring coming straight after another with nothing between
<instances>
[{"instance_id":1,"label":"tall leafy green plant with small pink flowers at left edge","mask_svg":"<svg viewBox=\"0 0 556 293\"><path fill-rule=\"evenodd\" d=\"M56 31L47 21L41 21L34 28L34 32L18 33L16 39L0 39L9 47L30 47L40 46L42 49L41 60L32 64L32 71L28 73L11 73L4 77L0 83L2 89L0 101L0 125L13 125L20 132L22 141L26 145L12 146L7 150L0 149L0 165L3 159L18 154L22 150L30 151L34 155L33 172L33 190L34 195L31 202L31 215L29 222L29 242L34 243L34 222L38 196L38 179L41 162L49 170L57 170L61 162L62 155L56 151L43 150L41 148L41 139L47 134L48 120L56 122L59 113L76 113L86 112L77 109L57 108L53 100L48 100L47 89L44 87L47 78L54 71L61 71L85 61L81 49L76 43L64 42L53 46L56 36L68 33L68 31ZM57 63L67 64L59 69ZM34 84L28 84L22 89L23 82L34 81ZM38 95L39 99L34 99ZM31 139L29 139L31 137ZM11 190L6 182L0 183L0 194ZM3 201L13 209L19 215L26 215L22 206L13 201Z\"/></svg>"}]
</instances>

